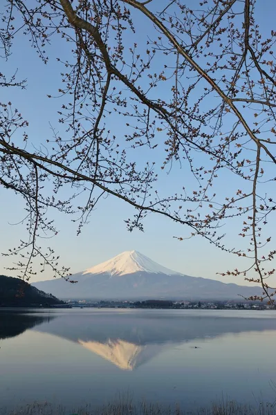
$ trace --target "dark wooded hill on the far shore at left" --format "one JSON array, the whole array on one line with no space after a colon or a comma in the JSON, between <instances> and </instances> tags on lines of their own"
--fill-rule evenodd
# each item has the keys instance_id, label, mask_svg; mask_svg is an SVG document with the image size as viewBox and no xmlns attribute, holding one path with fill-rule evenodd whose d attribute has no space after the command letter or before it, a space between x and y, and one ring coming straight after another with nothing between
<instances>
[{"instance_id":1,"label":"dark wooded hill on the far shore at left","mask_svg":"<svg viewBox=\"0 0 276 415\"><path fill-rule=\"evenodd\" d=\"M61 304L62 301L51 294L31 286L19 278L0 275L0 306L29 307Z\"/></svg>"}]
</instances>

